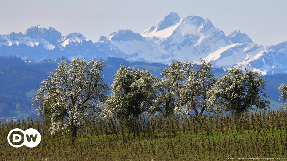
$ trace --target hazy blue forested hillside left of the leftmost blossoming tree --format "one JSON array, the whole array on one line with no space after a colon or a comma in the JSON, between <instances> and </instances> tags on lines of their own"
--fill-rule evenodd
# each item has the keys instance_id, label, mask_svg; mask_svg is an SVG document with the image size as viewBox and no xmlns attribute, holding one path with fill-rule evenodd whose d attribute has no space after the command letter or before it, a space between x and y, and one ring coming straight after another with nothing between
<instances>
[{"instance_id":1,"label":"hazy blue forested hillside left of the leftmost blossoming tree","mask_svg":"<svg viewBox=\"0 0 287 161\"><path fill-rule=\"evenodd\" d=\"M39 82L56 67L56 63L33 63L17 57L0 57L0 116L9 114L9 110L34 111L31 91L37 90Z\"/></svg>"}]
</instances>

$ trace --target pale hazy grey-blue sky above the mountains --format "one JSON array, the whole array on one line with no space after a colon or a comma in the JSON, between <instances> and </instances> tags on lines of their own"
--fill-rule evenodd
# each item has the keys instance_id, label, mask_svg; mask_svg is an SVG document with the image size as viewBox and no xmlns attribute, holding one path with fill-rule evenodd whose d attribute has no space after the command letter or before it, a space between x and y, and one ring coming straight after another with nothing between
<instances>
[{"instance_id":1,"label":"pale hazy grey-blue sky above the mountains","mask_svg":"<svg viewBox=\"0 0 287 161\"><path fill-rule=\"evenodd\" d=\"M286 0L0 0L0 34L40 24L97 42L119 29L140 33L177 12L208 18L225 34L238 27L253 42L273 45L287 40L286 6Z\"/></svg>"}]
</instances>

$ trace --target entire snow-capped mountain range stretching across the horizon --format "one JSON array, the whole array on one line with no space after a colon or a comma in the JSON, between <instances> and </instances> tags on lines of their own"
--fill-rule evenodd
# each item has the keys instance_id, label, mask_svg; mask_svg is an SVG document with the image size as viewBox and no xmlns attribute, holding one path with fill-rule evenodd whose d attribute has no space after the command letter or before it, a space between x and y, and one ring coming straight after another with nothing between
<instances>
[{"instance_id":1,"label":"entire snow-capped mountain range stretching across the horizon","mask_svg":"<svg viewBox=\"0 0 287 161\"><path fill-rule=\"evenodd\" d=\"M287 72L287 41L274 46L258 45L238 28L226 35L209 19L181 18L175 12L169 12L157 26L141 33L118 30L95 43L80 33L62 36L53 27L37 25L25 33L0 35L0 55L16 55L37 62L63 56L86 60L118 57L163 64L173 60L198 63L204 58L215 67L236 66L262 75Z\"/></svg>"}]
</instances>

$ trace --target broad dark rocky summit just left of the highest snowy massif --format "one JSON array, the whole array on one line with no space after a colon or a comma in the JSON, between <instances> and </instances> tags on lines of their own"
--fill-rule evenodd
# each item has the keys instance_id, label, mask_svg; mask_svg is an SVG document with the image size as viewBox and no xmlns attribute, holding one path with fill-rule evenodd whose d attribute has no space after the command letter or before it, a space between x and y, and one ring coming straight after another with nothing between
<instances>
[{"instance_id":1,"label":"broad dark rocky summit just left of the highest snowy massif","mask_svg":"<svg viewBox=\"0 0 287 161\"><path fill-rule=\"evenodd\" d=\"M108 38L110 41L142 41L143 37L139 33L134 33L133 31L127 30L118 30L118 32L114 32Z\"/></svg>"}]
</instances>

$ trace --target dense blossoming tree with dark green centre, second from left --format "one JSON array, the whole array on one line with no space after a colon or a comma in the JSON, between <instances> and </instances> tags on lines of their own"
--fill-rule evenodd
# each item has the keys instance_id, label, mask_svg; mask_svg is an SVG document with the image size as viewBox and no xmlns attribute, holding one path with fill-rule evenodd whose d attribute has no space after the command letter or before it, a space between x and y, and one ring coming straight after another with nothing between
<instances>
[{"instance_id":1,"label":"dense blossoming tree with dark green centre, second from left","mask_svg":"<svg viewBox=\"0 0 287 161\"><path fill-rule=\"evenodd\" d=\"M137 116L152 105L152 86L156 78L147 70L135 70L121 65L114 75L112 94L104 103L107 117Z\"/></svg>"}]
</instances>

